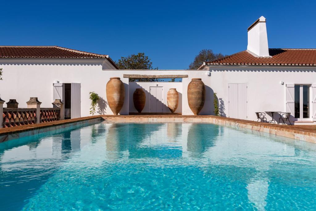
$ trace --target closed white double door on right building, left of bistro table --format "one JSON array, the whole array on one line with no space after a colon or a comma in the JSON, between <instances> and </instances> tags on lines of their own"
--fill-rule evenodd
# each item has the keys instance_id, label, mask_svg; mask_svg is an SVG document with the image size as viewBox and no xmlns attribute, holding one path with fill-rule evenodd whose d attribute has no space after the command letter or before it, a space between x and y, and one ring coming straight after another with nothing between
<instances>
[{"instance_id":1,"label":"closed white double door on right building, left of bistro table","mask_svg":"<svg viewBox=\"0 0 316 211\"><path fill-rule=\"evenodd\" d=\"M228 117L247 119L247 84L228 84Z\"/></svg>"}]
</instances>

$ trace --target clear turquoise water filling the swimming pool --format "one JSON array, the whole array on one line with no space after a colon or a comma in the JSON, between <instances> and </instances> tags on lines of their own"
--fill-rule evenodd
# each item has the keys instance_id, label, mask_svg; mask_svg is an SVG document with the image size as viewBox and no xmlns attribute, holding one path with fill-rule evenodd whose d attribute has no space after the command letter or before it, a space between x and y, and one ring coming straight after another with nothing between
<instances>
[{"instance_id":1,"label":"clear turquoise water filling the swimming pool","mask_svg":"<svg viewBox=\"0 0 316 211\"><path fill-rule=\"evenodd\" d=\"M98 123L0 144L0 210L313 210L316 147L212 124Z\"/></svg>"}]
</instances>

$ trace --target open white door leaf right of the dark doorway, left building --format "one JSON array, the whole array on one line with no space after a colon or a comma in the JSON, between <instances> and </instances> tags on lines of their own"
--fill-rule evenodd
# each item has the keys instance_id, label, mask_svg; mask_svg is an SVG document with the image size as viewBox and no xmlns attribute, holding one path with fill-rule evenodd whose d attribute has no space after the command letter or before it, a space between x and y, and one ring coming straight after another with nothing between
<instances>
[{"instance_id":1,"label":"open white door leaf right of the dark doorway, left building","mask_svg":"<svg viewBox=\"0 0 316 211\"><path fill-rule=\"evenodd\" d=\"M71 83L71 119L81 117L81 84Z\"/></svg>"}]
</instances>

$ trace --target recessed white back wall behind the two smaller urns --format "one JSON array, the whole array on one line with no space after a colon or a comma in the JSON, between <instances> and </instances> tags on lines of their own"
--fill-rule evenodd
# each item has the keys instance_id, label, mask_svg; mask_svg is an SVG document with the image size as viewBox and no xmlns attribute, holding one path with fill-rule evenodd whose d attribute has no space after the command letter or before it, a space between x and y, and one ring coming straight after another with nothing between
<instances>
[{"instance_id":1,"label":"recessed white back wall behind the two smaller urns","mask_svg":"<svg viewBox=\"0 0 316 211\"><path fill-rule=\"evenodd\" d=\"M170 88L176 88L179 93L179 104L178 108L175 113L182 112L182 82L130 82L129 83L129 110L130 112L138 112L133 103L133 93L137 88L143 88L146 94L146 103L142 113L149 113L149 98L150 98L150 87L151 86L160 86L163 87L163 112L164 113L171 113L170 109L168 108L167 103L167 93Z\"/></svg>"}]
</instances>

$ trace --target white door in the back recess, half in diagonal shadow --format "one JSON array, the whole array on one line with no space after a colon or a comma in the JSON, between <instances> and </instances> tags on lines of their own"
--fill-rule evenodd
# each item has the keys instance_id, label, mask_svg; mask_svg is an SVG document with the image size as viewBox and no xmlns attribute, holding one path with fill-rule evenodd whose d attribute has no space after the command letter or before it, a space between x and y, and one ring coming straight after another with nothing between
<instances>
[{"instance_id":1,"label":"white door in the back recess, half in diagonal shadow","mask_svg":"<svg viewBox=\"0 0 316 211\"><path fill-rule=\"evenodd\" d=\"M149 112L163 113L163 87L151 86L149 92Z\"/></svg>"}]
</instances>

